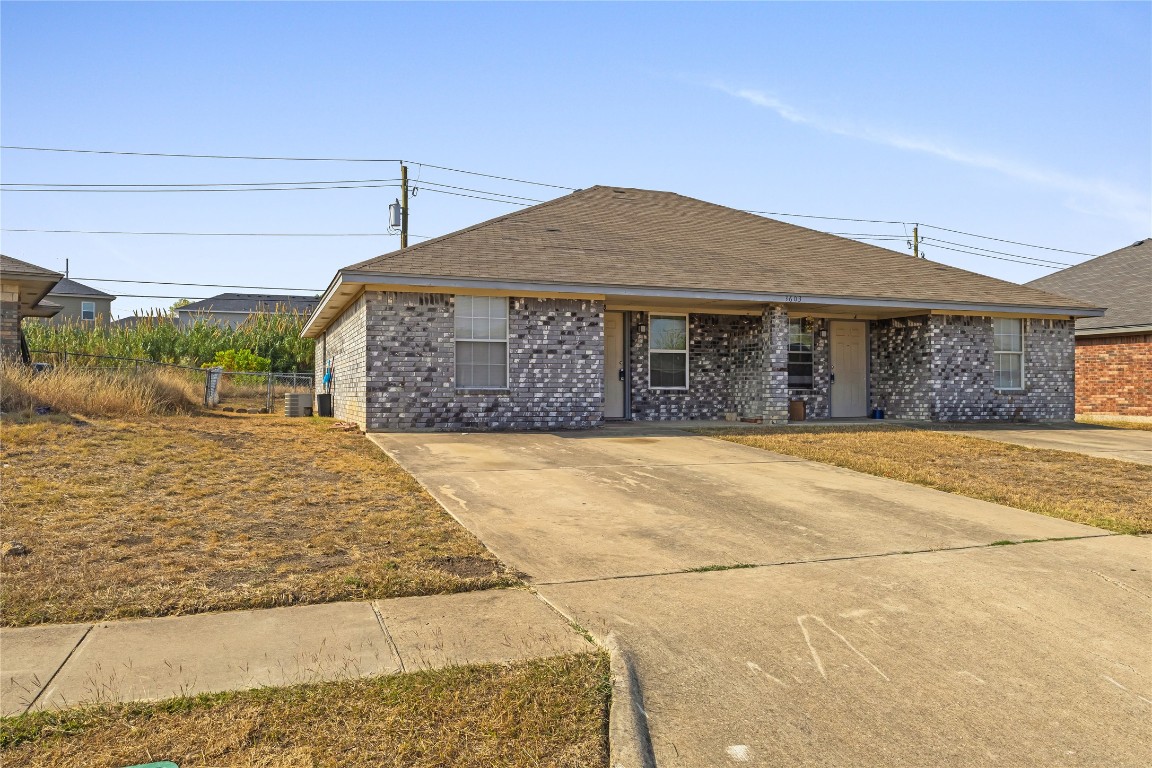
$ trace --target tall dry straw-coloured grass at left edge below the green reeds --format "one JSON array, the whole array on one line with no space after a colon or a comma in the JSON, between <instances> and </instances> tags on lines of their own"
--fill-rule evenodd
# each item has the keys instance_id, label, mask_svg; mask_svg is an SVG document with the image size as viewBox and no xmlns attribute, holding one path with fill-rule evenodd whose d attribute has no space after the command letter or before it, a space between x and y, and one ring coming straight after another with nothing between
<instances>
[{"instance_id":1,"label":"tall dry straw-coloured grass at left edge below the green reeds","mask_svg":"<svg viewBox=\"0 0 1152 768\"><path fill-rule=\"evenodd\" d=\"M31 420L33 408L60 413L129 418L189 413L204 398L204 378L179 368L131 371L58 367L36 373L24 365L0 365L0 410Z\"/></svg>"}]
</instances>

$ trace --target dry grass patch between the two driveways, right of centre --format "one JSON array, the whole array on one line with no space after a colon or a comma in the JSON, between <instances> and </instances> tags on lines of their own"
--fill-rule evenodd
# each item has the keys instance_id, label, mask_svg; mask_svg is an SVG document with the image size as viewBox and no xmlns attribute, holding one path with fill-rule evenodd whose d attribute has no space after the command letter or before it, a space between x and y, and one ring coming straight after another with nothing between
<instances>
[{"instance_id":1,"label":"dry grass patch between the two driveways, right of centre","mask_svg":"<svg viewBox=\"0 0 1152 768\"><path fill-rule=\"evenodd\" d=\"M707 432L1117 533L1152 532L1152 466L889 426Z\"/></svg>"}]
</instances>

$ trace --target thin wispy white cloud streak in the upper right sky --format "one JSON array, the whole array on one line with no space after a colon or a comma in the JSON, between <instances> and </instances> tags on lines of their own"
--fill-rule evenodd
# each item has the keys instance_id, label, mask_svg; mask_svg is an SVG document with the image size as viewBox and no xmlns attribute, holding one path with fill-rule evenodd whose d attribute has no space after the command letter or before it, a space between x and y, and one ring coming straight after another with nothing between
<instances>
[{"instance_id":1,"label":"thin wispy white cloud streak in the upper right sky","mask_svg":"<svg viewBox=\"0 0 1152 768\"><path fill-rule=\"evenodd\" d=\"M826 134L882 144L908 152L930 154L960 165L992 170L1003 176L1066 192L1070 197L1064 200L1064 204L1069 208L1081 213L1131 221L1142 226L1147 226L1149 219L1152 218L1152 201L1150 201L1146 195L1107 181L1081 178L1059 170L1038 168L994 154L962 150L937 139L884 131L854 122L831 120L797 109L764 91L735 89L719 83L712 84L712 88L749 104L755 104L758 107L771 109L788 122L808 126Z\"/></svg>"}]
</instances>

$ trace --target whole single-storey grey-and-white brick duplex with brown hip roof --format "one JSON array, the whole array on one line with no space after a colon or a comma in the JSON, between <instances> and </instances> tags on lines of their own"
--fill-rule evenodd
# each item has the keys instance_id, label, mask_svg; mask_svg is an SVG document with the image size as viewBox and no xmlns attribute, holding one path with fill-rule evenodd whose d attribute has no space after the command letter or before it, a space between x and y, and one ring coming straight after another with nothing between
<instances>
[{"instance_id":1,"label":"whole single-storey grey-and-white brick duplex with brown hip roof","mask_svg":"<svg viewBox=\"0 0 1152 768\"><path fill-rule=\"evenodd\" d=\"M1074 417L1070 299L670 192L593 187L346 267L304 328L379 429ZM329 373L331 377L325 377Z\"/></svg>"}]
</instances>

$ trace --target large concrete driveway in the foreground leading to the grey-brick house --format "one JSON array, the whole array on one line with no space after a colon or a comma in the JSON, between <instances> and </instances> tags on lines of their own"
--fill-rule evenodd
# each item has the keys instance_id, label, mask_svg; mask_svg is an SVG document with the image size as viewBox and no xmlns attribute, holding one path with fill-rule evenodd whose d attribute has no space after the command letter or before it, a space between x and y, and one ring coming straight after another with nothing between
<instances>
[{"instance_id":1,"label":"large concrete driveway in the foreground leading to the grey-brick house","mask_svg":"<svg viewBox=\"0 0 1152 768\"><path fill-rule=\"evenodd\" d=\"M1152 540L689 434L372 439L616 636L659 766L1152 765Z\"/></svg>"}]
</instances>

